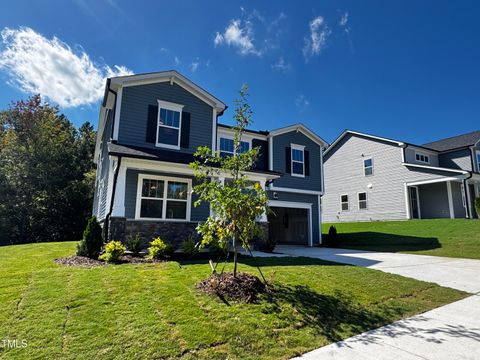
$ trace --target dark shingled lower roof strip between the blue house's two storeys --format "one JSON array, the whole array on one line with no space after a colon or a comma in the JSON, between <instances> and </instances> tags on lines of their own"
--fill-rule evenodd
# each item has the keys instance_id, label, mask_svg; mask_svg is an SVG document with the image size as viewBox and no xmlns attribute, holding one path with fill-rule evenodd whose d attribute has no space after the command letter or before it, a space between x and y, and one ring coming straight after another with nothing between
<instances>
[{"instance_id":1,"label":"dark shingled lower roof strip between the blue house's two storeys","mask_svg":"<svg viewBox=\"0 0 480 360\"><path fill-rule=\"evenodd\" d=\"M195 160L193 154L163 149L149 149L131 145L120 145L110 142L108 143L108 153L110 155L124 156L128 158L165 161L176 164L190 164L192 161ZM249 170L249 172L258 174L281 175L281 173L277 171L259 169L252 169Z\"/></svg>"}]
</instances>

